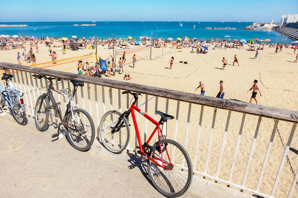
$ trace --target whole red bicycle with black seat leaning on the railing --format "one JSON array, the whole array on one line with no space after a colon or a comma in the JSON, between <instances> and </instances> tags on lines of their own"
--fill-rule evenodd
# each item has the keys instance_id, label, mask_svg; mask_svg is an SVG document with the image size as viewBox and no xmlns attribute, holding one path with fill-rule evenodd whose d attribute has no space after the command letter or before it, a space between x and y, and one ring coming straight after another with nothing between
<instances>
[{"instance_id":1,"label":"whole red bicycle with black seat leaning on the railing","mask_svg":"<svg viewBox=\"0 0 298 198\"><path fill-rule=\"evenodd\" d=\"M122 94L131 94L134 96L134 102L128 111L120 113L118 111L108 111L100 121L100 137L104 147L112 153L122 153L127 147L130 129L127 118L131 114L139 146L137 152L141 154L141 160L147 159L148 174L153 186L166 197L179 197L190 187L193 179L193 166L185 148L178 142L166 139L162 134L160 125L173 119L172 115L156 111L161 116L157 122L149 115L135 106L138 100L136 93L123 91ZM156 125L147 142L142 144L138 124L136 122L135 112L139 112L150 122ZM158 133L158 142L153 146L149 145L153 135Z\"/></svg>"}]
</instances>

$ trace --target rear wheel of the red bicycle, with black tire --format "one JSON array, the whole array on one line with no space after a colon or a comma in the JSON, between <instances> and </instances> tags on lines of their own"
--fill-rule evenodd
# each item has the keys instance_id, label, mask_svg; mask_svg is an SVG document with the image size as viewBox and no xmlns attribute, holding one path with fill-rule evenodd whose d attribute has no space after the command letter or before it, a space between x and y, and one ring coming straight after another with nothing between
<instances>
[{"instance_id":1,"label":"rear wheel of the red bicycle, with black tire","mask_svg":"<svg viewBox=\"0 0 298 198\"><path fill-rule=\"evenodd\" d=\"M193 166L185 148L174 140L164 139L153 145L150 157L166 169L148 159L148 173L153 186L166 197L179 197L190 187L193 180Z\"/></svg>"}]
</instances>

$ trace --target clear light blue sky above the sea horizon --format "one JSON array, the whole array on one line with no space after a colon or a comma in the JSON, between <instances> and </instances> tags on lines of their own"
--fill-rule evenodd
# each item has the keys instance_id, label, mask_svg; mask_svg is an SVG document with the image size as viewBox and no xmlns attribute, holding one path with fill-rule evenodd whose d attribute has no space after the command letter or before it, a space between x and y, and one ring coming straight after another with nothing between
<instances>
[{"instance_id":1,"label":"clear light blue sky above the sea horizon","mask_svg":"<svg viewBox=\"0 0 298 198\"><path fill-rule=\"evenodd\" d=\"M285 3L287 2L287 3ZM0 0L0 22L22 21L280 21L298 0ZM151 6L152 5L152 6Z\"/></svg>"}]
</instances>

